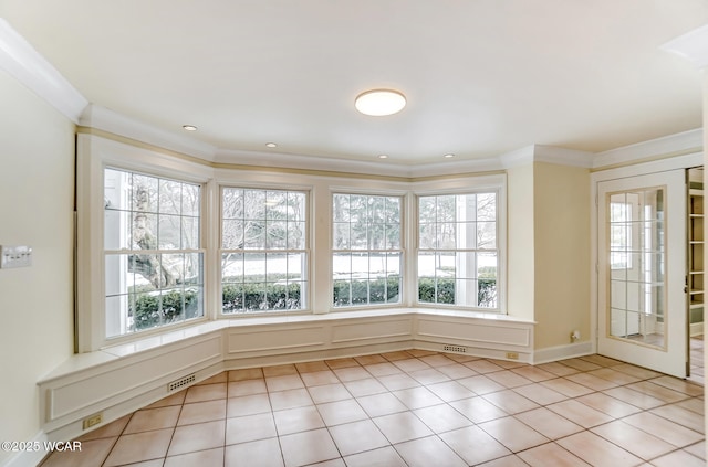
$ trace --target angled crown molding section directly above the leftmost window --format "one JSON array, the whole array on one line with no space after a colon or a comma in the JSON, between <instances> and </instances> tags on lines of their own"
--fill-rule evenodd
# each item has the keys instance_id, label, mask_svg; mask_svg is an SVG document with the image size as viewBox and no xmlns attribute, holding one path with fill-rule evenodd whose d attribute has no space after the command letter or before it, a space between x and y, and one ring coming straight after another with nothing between
<instances>
[{"instance_id":1,"label":"angled crown molding section directly above the leftmost window","mask_svg":"<svg viewBox=\"0 0 708 467\"><path fill-rule=\"evenodd\" d=\"M204 159L208 162L215 161L215 155L217 152L217 148L207 142L146 125L95 104L86 106L79 118L79 124L170 151Z\"/></svg>"}]
</instances>

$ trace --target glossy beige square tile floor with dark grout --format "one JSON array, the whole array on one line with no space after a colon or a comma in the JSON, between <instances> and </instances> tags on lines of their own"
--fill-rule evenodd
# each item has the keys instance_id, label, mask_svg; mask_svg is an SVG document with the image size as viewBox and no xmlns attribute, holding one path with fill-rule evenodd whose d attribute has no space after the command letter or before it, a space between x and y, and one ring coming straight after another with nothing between
<instances>
[{"instance_id":1,"label":"glossy beige square tile floor with dark grout","mask_svg":"<svg viewBox=\"0 0 708 467\"><path fill-rule=\"evenodd\" d=\"M705 466L704 389L600 355L428 351L218 374L42 467Z\"/></svg>"}]
</instances>

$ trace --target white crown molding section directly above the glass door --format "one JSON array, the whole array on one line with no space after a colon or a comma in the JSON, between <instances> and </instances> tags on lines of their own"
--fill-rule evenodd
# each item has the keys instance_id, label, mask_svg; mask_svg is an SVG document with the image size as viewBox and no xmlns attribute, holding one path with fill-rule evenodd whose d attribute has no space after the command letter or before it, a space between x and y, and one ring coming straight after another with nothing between
<instances>
[{"instance_id":1,"label":"white crown molding section directly above the glass door","mask_svg":"<svg viewBox=\"0 0 708 467\"><path fill-rule=\"evenodd\" d=\"M650 139L629 146L624 146L608 151L598 152L593 160L593 169L603 169L612 166L626 166L650 159L680 156L690 152L699 152L704 147L704 130L693 130Z\"/></svg>"}]
</instances>

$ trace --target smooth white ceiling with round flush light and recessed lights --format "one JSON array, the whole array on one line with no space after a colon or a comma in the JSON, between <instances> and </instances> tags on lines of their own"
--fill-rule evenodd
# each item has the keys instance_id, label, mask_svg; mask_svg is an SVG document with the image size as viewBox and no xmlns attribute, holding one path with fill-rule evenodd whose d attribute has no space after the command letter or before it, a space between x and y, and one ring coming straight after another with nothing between
<instances>
[{"instance_id":1,"label":"smooth white ceiling with round flush light and recessed lights","mask_svg":"<svg viewBox=\"0 0 708 467\"><path fill-rule=\"evenodd\" d=\"M659 46L708 23L706 0L1 0L0 15L88 102L227 152L410 166L701 126L700 73ZM357 114L377 87L407 107Z\"/></svg>"}]
</instances>

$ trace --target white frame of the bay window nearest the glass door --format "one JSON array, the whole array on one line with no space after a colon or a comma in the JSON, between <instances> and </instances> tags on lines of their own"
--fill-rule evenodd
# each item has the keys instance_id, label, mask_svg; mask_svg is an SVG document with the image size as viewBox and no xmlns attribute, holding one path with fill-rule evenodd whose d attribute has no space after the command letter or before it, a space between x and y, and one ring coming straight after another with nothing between
<instances>
[{"instance_id":1,"label":"white frame of the bay window nearest the glass door","mask_svg":"<svg viewBox=\"0 0 708 467\"><path fill-rule=\"evenodd\" d=\"M459 311L482 312L490 315L507 315L507 177L506 174L498 176L470 176L467 178L450 180L445 183L447 187L441 187L439 183L430 183L425 187L417 187L414 189L414 202L413 202L413 245L412 262L414 262L414 290L412 303L416 308L440 308ZM440 303L427 303L419 300L419 265L418 255L421 252L420 245L420 220L419 220L419 200L421 197L440 197L440 195L460 195L460 194L477 194L477 193L490 193L497 194L497 307L472 307L455 304L440 304ZM459 251L459 248L444 251ZM464 250L464 248L462 248ZM430 252L439 251L428 250Z\"/></svg>"}]
</instances>

